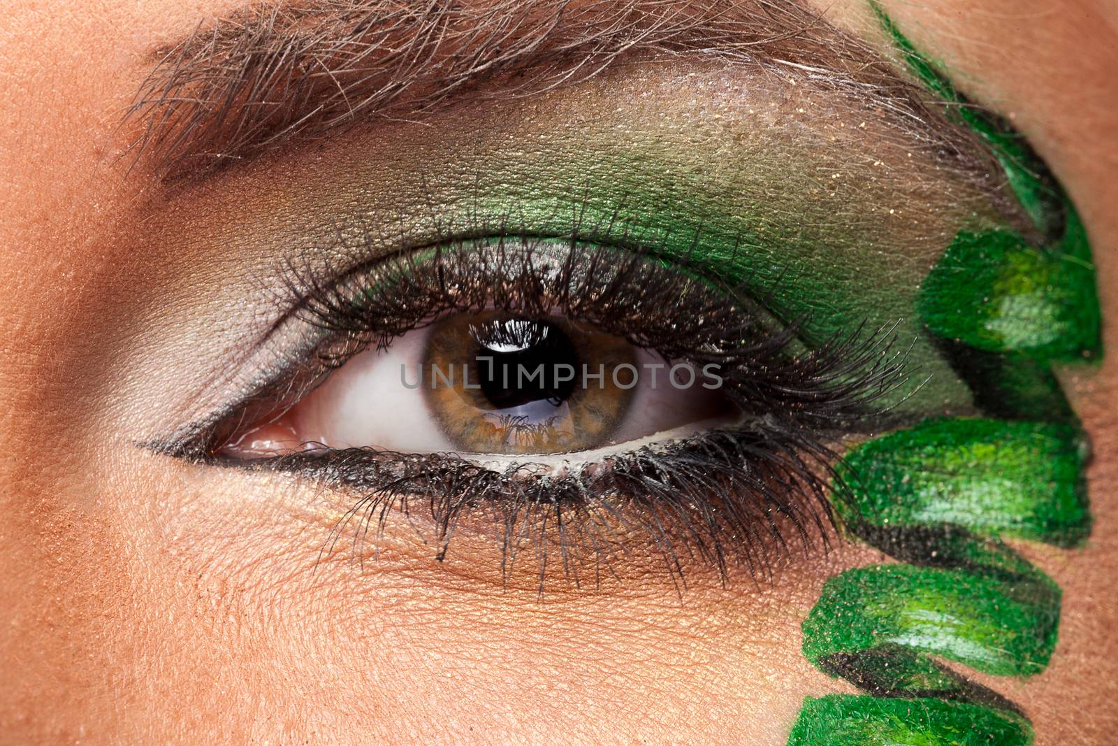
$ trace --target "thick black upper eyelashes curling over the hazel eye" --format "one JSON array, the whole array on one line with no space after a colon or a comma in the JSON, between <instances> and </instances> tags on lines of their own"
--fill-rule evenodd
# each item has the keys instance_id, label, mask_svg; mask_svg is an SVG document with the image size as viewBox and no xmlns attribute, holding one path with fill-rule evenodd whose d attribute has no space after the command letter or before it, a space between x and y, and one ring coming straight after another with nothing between
<instances>
[{"instance_id":1,"label":"thick black upper eyelashes curling over the hazel eye","mask_svg":"<svg viewBox=\"0 0 1118 746\"><path fill-rule=\"evenodd\" d=\"M665 359L723 366L730 391L741 395L736 404L749 404L747 396L756 397L754 404L779 402L797 423L814 427L879 414L873 402L908 380L904 353L894 350L889 329L859 328L797 352L800 321L773 330L765 323L771 312L743 286L720 285L685 265L663 267L651 248L574 239L563 239L561 266L546 277L532 261L550 240L456 239L352 271L333 284L292 268L288 286L312 287L296 305L326 334L319 357L328 367L368 346L387 347L434 314L495 305L525 315L567 314ZM372 286L382 290L370 292Z\"/></svg>"}]
</instances>

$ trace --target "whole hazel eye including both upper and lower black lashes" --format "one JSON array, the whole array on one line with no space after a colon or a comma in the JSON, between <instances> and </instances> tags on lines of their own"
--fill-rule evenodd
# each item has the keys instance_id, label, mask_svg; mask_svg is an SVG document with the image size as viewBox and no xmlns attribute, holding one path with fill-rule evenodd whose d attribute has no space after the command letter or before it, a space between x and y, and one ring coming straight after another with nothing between
<instances>
[{"instance_id":1,"label":"whole hazel eye including both upper and lower black lashes","mask_svg":"<svg viewBox=\"0 0 1118 746\"><path fill-rule=\"evenodd\" d=\"M824 540L833 448L902 398L896 324L815 330L608 230L470 233L290 267L290 365L176 452L353 492L339 530L426 513L444 553L479 513L506 559L643 542L673 573L765 574L789 531Z\"/></svg>"}]
</instances>

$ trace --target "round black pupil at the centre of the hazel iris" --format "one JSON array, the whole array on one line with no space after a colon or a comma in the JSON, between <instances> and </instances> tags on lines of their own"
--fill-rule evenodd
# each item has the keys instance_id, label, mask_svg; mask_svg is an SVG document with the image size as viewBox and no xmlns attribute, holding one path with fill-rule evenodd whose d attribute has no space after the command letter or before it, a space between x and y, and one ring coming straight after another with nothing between
<instances>
[{"instance_id":1,"label":"round black pupil at the centre of the hazel iris","mask_svg":"<svg viewBox=\"0 0 1118 746\"><path fill-rule=\"evenodd\" d=\"M559 406L575 391L578 352L570 337L547 321L506 319L472 325L474 374L494 409L533 402Z\"/></svg>"}]
</instances>

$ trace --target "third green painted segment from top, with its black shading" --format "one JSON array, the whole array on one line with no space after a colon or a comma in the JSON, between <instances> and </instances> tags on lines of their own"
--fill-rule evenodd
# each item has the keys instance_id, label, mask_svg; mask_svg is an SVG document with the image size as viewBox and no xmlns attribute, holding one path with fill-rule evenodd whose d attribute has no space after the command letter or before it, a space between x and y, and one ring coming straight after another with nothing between
<instances>
[{"instance_id":1,"label":"third green painted segment from top, with its black shading","mask_svg":"<svg viewBox=\"0 0 1118 746\"><path fill-rule=\"evenodd\" d=\"M1060 588L1015 551L957 528L872 528L904 564L847 570L804 622L818 669L887 697L944 697L1012 710L929 654L997 676L1031 676L1055 646Z\"/></svg>"}]
</instances>

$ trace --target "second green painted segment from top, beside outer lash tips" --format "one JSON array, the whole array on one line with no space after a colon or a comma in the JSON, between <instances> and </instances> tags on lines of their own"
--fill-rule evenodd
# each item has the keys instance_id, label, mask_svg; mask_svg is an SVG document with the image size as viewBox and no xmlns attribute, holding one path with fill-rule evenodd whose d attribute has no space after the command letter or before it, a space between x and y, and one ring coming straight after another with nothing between
<instances>
[{"instance_id":1,"label":"second green painted segment from top, beside outer lash tips","mask_svg":"<svg viewBox=\"0 0 1118 746\"><path fill-rule=\"evenodd\" d=\"M1090 532L1086 457L1071 425L926 421L849 453L839 472L850 500L837 507L849 525L950 523L1074 546Z\"/></svg>"}]
</instances>

